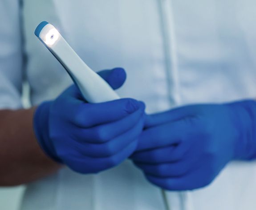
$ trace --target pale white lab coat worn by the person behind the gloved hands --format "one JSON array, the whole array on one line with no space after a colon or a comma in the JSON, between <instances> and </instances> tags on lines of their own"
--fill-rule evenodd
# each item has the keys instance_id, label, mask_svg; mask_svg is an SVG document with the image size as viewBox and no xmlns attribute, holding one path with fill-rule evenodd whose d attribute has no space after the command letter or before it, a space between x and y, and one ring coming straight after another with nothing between
<instances>
[{"instance_id":1,"label":"pale white lab coat worn by the person behind the gloved hands","mask_svg":"<svg viewBox=\"0 0 256 210\"><path fill-rule=\"evenodd\" d=\"M255 0L17 0L0 2L0 107L33 105L72 82L33 35L54 24L94 70L125 67L118 94L147 112L188 103L256 98ZM23 43L23 48L22 48ZM22 49L27 62L22 65ZM166 192L171 210L255 210L256 162L232 162L206 188ZM161 190L126 161L97 175L64 168L28 184L21 210L166 210Z\"/></svg>"}]
</instances>

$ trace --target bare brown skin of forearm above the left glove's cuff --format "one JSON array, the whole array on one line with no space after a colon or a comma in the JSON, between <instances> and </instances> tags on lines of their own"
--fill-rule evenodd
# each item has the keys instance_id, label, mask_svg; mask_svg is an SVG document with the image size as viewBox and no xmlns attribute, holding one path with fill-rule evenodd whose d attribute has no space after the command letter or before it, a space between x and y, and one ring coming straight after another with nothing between
<instances>
[{"instance_id":1,"label":"bare brown skin of forearm above the left glove's cuff","mask_svg":"<svg viewBox=\"0 0 256 210\"><path fill-rule=\"evenodd\" d=\"M35 109L0 110L0 186L32 182L61 168L37 143Z\"/></svg>"}]
</instances>

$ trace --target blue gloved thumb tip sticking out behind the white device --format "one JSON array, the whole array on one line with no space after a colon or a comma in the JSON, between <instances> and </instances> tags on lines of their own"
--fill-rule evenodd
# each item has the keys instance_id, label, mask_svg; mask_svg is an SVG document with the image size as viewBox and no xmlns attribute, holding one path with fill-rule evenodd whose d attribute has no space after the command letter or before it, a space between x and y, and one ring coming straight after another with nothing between
<instances>
[{"instance_id":1,"label":"blue gloved thumb tip sticking out behind the white device","mask_svg":"<svg viewBox=\"0 0 256 210\"><path fill-rule=\"evenodd\" d=\"M123 85L126 80L126 72L123 68L103 70L97 72L115 90Z\"/></svg>"}]
</instances>

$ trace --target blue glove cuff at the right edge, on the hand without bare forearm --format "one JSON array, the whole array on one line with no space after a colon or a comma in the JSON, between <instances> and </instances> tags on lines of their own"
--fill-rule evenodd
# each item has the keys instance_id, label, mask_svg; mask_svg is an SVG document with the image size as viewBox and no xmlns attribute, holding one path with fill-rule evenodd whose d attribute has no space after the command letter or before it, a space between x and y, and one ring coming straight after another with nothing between
<instances>
[{"instance_id":1,"label":"blue glove cuff at the right edge, on the hand without bare forearm","mask_svg":"<svg viewBox=\"0 0 256 210\"><path fill-rule=\"evenodd\" d=\"M229 103L234 124L238 131L234 159L251 160L256 158L256 101L244 100Z\"/></svg>"}]
</instances>

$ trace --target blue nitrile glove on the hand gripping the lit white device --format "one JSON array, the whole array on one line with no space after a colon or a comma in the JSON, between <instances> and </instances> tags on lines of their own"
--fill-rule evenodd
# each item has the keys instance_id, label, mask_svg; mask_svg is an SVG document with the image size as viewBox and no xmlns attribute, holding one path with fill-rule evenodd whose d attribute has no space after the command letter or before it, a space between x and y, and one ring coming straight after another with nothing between
<instances>
[{"instance_id":1,"label":"blue nitrile glove on the hand gripping the lit white device","mask_svg":"<svg viewBox=\"0 0 256 210\"><path fill-rule=\"evenodd\" d=\"M100 75L114 88L122 86L126 78L120 68ZM97 173L134 152L143 129L144 109L144 103L135 99L86 103L72 85L37 108L34 130L51 158L80 173Z\"/></svg>"}]
</instances>

